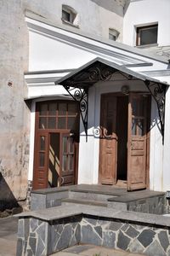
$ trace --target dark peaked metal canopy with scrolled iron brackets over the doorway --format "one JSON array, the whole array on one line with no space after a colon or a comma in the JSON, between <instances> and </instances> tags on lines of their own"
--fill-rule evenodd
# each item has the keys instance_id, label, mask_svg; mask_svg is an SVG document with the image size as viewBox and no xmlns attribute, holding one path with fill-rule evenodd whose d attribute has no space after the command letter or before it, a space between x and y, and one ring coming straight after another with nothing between
<instances>
[{"instance_id":1,"label":"dark peaked metal canopy with scrolled iron brackets over the doorway","mask_svg":"<svg viewBox=\"0 0 170 256\"><path fill-rule=\"evenodd\" d=\"M116 65L111 61L101 58L95 58L93 61L89 61L86 65L55 82L55 84L63 85L71 97L79 103L86 137L88 137L88 89L99 81L115 81L115 73L121 74L124 80L139 79L144 81L144 84L150 90L150 94L156 100L161 123L161 135L163 137L165 94L168 84L161 83L157 79L152 79L140 73L135 73L127 67Z\"/></svg>"}]
</instances>

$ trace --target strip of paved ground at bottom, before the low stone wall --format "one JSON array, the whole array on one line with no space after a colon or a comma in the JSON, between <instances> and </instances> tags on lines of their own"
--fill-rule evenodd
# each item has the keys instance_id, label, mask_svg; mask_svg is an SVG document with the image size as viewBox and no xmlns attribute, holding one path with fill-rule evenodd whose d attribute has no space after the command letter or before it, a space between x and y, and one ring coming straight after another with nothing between
<instances>
[{"instance_id":1,"label":"strip of paved ground at bottom, before the low stone wall","mask_svg":"<svg viewBox=\"0 0 170 256\"><path fill-rule=\"evenodd\" d=\"M52 256L144 256L140 253L128 253L121 250L115 250L106 247L97 247L93 245L79 245L70 247L62 252L54 253Z\"/></svg>"}]
</instances>

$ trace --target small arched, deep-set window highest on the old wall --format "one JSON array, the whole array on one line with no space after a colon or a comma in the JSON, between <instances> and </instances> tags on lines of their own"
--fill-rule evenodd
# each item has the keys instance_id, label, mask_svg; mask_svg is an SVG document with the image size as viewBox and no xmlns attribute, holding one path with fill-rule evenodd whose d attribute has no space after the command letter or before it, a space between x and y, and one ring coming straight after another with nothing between
<instances>
[{"instance_id":1,"label":"small arched, deep-set window highest on the old wall","mask_svg":"<svg viewBox=\"0 0 170 256\"><path fill-rule=\"evenodd\" d=\"M78 15L75 9L68 5L62 5L62 18L65 23L73 26L78 26Z\"/></svg>"}]
</instances>

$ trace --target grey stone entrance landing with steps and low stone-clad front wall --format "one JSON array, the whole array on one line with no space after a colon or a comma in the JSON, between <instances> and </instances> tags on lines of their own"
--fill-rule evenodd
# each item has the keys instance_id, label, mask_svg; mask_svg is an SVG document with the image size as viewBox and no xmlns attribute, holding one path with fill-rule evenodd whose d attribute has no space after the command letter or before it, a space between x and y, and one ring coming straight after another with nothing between
<instances>
[{"instance_id":1,"label":"grey stone entrance landing with steps and low stone-clad front wall","mask_svg":"<svg viewBox=\"0 0 170 256\"><path fill-rule=\"evenodd\" d=\"M18 216L18 230L25 231L18 234L17 255L51 255L80 244L121 249L124 255L170 255L170 218L143 213L161 214L164 200L160 192L100 185L33 191L37 211Z\"/></svg>"}]
</instances>

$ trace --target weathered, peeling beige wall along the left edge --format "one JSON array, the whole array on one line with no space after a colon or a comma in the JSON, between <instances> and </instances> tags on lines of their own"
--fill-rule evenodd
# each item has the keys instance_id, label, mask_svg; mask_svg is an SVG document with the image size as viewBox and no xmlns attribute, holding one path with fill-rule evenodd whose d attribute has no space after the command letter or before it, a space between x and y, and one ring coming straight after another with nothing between
<instances>
[{"instance_id":1,"label":"weathered, peeling beige wall along the left edge","mask_svg":"<svg viewBox=\"0 0 170 256\"><path fill-rule=\"evenodd\" d=\"M29 115L24 102L28 31L21 0L0 1L0 202L26 199Z\"/></svg>"}]
</instances>

